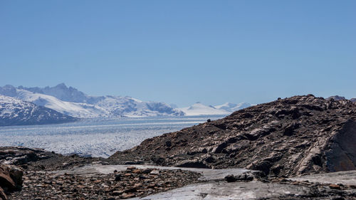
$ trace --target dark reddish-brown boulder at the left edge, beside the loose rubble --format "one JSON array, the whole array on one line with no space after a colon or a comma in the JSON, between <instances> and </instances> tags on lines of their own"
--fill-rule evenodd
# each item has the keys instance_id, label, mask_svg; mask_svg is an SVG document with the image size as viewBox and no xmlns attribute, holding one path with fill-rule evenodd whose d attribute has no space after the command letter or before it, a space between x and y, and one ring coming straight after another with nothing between
<instances>
[{"instance_id":1,"label":"dark reddish-brown boulder at the left edge, beside the loose rubble","mask_svg":"<svg viewBox=\"0 0 356 200\"><path fill-rule=\"evenodd\" d=\"M21 189L22 175L19 168L0 164L0 199L7 199L6 194Z\"/></svg>"}]
</instances>

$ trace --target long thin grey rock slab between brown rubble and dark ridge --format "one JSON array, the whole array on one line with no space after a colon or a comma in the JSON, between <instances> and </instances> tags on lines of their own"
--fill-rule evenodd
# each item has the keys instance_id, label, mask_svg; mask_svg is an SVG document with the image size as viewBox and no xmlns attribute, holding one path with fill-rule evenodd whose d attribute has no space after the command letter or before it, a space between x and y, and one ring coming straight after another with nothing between
<instances>
[{"instance_id":1,"label":"long thin grey rock slab between brown rubble and dark ridge","mask_svg":"<svg viewBox=\"0 0 356 200\"><path fill-rule=\"evenodd\" d=\"M74 167L72 169L60 170L54 172L55 174L73 174L73 175L93 175L93 174L110 174L114 170L125 171L127 167L136 167L137 169L182 169L191 172L197 172L202 174L200 180L204 181L220 181L223 180L227 175L240 175L245 172L257 172L249 169L204 169L204 168L185 168L185 167L159 167L152 165L101 165L101 164L89 164L83 167Z\"/></svg>"}]
</instances>

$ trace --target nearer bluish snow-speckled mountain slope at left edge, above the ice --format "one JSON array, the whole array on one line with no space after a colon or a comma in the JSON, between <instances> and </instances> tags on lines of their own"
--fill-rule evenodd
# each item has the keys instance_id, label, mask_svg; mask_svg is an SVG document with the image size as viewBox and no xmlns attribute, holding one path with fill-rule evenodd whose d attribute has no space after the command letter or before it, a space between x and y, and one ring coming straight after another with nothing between
<instances>
[{"instance_id":1,"label":"nearer bluish snow-speckled mountain slope at left edge, above the ice","mask_svg":"<svg viewBox=\"0 0 356 200\"><path fill-rule=\"evenodd\" d=\"M73 122L76 119L56 110L0 95L0 126L44 125Z\"/></svg>"}]
</instances>

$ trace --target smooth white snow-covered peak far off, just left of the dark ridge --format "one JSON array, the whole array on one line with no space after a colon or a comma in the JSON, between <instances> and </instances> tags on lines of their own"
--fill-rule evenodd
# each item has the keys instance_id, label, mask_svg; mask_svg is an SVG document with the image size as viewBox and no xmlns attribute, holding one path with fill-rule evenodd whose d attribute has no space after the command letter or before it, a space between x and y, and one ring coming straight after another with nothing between
<instances>
[{"instance_id":1,"label":"smooth white snow-covered peak far off, just left of the dark ridge","mask_svg":"<svg viewBox=\"0 0 356 200\"><path fill-rule=\"evenodd\" d=\"M214 106L207 106L202 104L201 102L196 102L189 107L179 108L188 116L194 115L229 115L230 112L226 110L216 109Z\"/></svg>"}]
</instances>

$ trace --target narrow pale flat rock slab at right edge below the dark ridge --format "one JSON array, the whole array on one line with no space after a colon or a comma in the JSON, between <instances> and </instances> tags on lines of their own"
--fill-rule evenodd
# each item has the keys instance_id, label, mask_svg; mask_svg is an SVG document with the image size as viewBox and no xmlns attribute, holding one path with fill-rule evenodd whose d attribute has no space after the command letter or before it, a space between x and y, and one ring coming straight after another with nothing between
<instances>
[{"instance_id":1,"label":"narrow pale flat rock slab at right edge below the dark ridge","mask_svg":"<svg viewBox=\"0 0 356 200\"><path fill-rule=\"evenodd\" d=\"M313 174L303 177L289 178L292 181L309 181L320 184L344 184L356 186L356 171Z\"/></svg>"}]
</instances>

